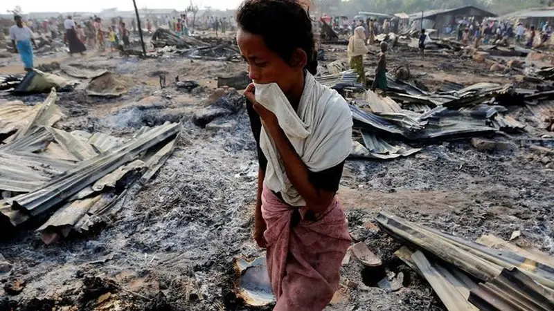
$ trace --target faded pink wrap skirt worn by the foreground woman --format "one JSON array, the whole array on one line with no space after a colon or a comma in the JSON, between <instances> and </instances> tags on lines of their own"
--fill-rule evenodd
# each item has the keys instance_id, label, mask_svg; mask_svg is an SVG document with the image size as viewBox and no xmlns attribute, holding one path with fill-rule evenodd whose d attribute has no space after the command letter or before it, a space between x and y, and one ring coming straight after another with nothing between
<instances>
[{"instance_id":1,"label":"faded pink wrap skirt worn by the foreground woman","mask_svg":"<svg viewBox=\"0 0 554 311\"><path fill-rule=\"evenodd\" d=\"M337 197L316 221L291 227L294 207L270 189L262 191L262 216L267 224L267 271L277 299L274 311L321 311L339 286L341 263L350 235Z\"/></svg>"}]
</instances>

